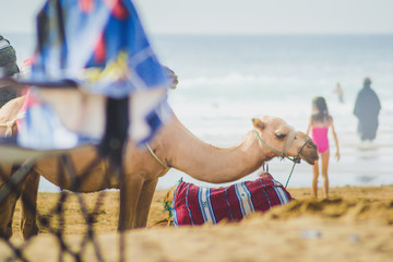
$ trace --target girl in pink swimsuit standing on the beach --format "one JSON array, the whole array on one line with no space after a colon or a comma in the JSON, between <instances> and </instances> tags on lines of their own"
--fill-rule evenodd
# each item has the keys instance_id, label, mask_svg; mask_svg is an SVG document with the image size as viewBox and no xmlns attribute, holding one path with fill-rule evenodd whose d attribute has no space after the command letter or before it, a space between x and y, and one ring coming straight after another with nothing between
<instances>
[{"instance_id":1,"label":"girl in pink swimsuit standing on the beach","mask_svg":"<svg viewBox=\"0 0 393 262\"><path fill-rule=\"evenodd\" d=\"M330 148L329 148L329 139L327 131L329 128L332 130L334 142L336 145L336 158L340 160L340 148L338 148L338 139L334 130L333 117L329 115L327 105L323 97L318 96L312 100L312 110L313 114L310 116L309 124L307 127L306 133L309 134L311 131L312 141L317 144L318 153L320 154L321 159L321 174L323 178L323 198L329 198L329 177L327 177L327 167L330 158ZM314 199L318 198L318 177L319 177L319 160L317 160L312 167L312 184L311 184L311 194Z\"/></svg>"}]
</instances>

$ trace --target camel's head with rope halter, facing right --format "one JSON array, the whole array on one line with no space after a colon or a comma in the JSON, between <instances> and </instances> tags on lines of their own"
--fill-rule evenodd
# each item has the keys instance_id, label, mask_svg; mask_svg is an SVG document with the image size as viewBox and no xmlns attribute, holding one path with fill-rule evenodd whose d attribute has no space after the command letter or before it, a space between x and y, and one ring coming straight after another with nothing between
<instances>
[{"instance_id":1,"label":"camel's head with rope halter, facing right","mask_svg":"<svg viewBox=\"0 0 393 262\"><path fill-rule=\"evenodd\" d=\"M259 138L263 152L270 151L270 156L300 157L310 165L318 160L317 145L309 135L296 131L277 117L264 116L252 120L255 135Z\"/></svg>"}]
</instances>

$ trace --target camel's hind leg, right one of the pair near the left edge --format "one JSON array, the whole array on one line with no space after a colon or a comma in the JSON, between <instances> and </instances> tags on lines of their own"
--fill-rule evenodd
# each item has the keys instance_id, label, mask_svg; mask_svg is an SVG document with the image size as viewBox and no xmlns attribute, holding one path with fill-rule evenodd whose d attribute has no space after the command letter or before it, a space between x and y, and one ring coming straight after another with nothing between
<instances>
[{"instance_id":1,"label":"camel's hind leg, right one of the pair near the left edge","mask_svg":"<svg viewBox=\"0 0 393 262\"><path fill-rule=\"evenodd\" d=\"M33 237L38 234L38 226L36 221L37 215L37 193L39 175L32 171L27 175L25 187L22 191L22 217L21 230L24 239Z\"/></svg>"}]
</instances>

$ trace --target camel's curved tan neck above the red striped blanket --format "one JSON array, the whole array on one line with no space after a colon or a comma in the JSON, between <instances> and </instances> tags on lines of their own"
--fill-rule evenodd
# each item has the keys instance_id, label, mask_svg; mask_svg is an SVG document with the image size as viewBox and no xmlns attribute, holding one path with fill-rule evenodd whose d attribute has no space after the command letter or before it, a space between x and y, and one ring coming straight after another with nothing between
<instances>
[{"instance_id":1,"label":"camel's curved tan neck above the red striped blanket","mask_svg":"<svg viewBox=\"0 0 393 262\"><path fill-rule=\"evenodd\" d=\"M175 126L175 124L174 124ZM168 163L191 177L212 183L240 179L262 166L267 156L252 131L242 142L229 148L210 145L187 130L180 122L170 132L177 133ZM181 130L181 131L180 131Z\"/></svg>"}]
</instances>

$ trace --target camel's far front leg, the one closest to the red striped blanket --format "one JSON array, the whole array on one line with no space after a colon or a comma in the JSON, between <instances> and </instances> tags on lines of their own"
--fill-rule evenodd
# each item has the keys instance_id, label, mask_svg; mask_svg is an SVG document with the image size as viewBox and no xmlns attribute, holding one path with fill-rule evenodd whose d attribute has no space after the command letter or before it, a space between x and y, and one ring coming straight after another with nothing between
<instances>
[{"instance_id":1,"label":"camel's far front leg, the one closest to the red striped blanket","mask_svg":"<svg viewBox=\"0 0 393 262\"><path fill-rule=\"evenodd\" d=\"M143 183L132 228L146 227L148 211L152 205L152 200L157 182L158 178L145 181Z\"/></svg>"}]
</instances>

